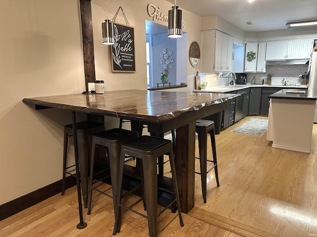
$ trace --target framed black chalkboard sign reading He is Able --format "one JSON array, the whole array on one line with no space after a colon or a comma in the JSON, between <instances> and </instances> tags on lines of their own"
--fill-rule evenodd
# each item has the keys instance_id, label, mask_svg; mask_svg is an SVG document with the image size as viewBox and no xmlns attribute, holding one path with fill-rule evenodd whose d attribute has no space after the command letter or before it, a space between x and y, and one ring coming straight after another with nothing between
<instances>
[{"instance_id":1,"label":"framed black chalkboard sign reading He is Able","mask_svg":"<svg viewBox=\"0 0 317 237\"><path fill-rule=\"evenodd\" d=\"M134 27L113 23L111 72L135 72Z\"/></svg>"}]
</instances>

